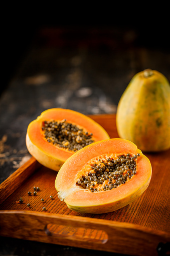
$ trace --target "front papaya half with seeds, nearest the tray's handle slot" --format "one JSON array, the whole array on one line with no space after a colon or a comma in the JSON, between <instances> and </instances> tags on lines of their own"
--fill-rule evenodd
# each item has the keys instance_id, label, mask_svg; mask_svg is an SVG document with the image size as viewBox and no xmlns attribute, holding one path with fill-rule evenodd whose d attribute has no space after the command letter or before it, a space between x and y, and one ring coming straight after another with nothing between
<instances>
[{"instance_id":1,"label":"front papaya half with seeds, nearest the tray's handle slot","mask_svg":"<svg viewBox=\"0 0 170 256\"><path fill-rule=\"evenodd\" d=\"M60 168L55 188L73 211L100 214L118 210L147 189L149 159L131 141L111 138L73 154Z\"/></svg>"}]
</instances>

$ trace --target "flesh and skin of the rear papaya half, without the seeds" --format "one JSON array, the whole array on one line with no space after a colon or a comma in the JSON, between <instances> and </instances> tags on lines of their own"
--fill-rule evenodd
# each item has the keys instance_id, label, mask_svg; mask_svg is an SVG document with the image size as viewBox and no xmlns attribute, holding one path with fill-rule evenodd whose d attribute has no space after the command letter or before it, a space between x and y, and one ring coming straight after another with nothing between
<instances>
[{"instance_id":1,"label":"flesh and skin of the rear papaya half, without the seeds","mask_svg":"<svg viewBox=\"0 0 170 256\"><path fill-rule=\"evenodd\" d=\"M102 126L79 112L60 108L44 111L36 120L29 124L26 135L26 145L30 154L40 163L56 171L60 169L66 159L74 154L75 151L68 150L67 147L60 147L59 144L55 145L52 142L48 142L45 137L44 127L45 123L51 122L76 126L78 130L83 130L83 132L87 132L88 135L92 134L90 136L91 142L110 138ZM73 133L75 134L76 132L73 131ZM67 139L65 142L68 143Z\"/></svg>"}]
</instances>

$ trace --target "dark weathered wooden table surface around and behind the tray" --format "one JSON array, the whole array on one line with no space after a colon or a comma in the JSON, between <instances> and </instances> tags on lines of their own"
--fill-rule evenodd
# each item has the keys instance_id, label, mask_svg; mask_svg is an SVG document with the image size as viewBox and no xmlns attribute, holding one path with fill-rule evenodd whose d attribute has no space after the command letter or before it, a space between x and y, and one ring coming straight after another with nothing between
<instances>
[{"instance_id":1,"label":"dark weathered wooden table surface around and behind the tray","mask_svg":"<svg viewBox=\"0 0 170 256\"><path fill-rule=\"evenodd\" d=\"M1 183L30 158L25 144L27 126L45 109L113 114L135 73L152 68L170 80L165 27L155 34L154 29L148 33L131 25L43 26L32 32L26 28L28 34L23 32L27 34L23 40L22 31L16 30L18 40L15 38L10 47L8 41L5 48L9 66L1 87ZM95 254L69 246L0 239L0 255L56 255L56 251L58 255Z\"/></svg>"}]
</instances>

